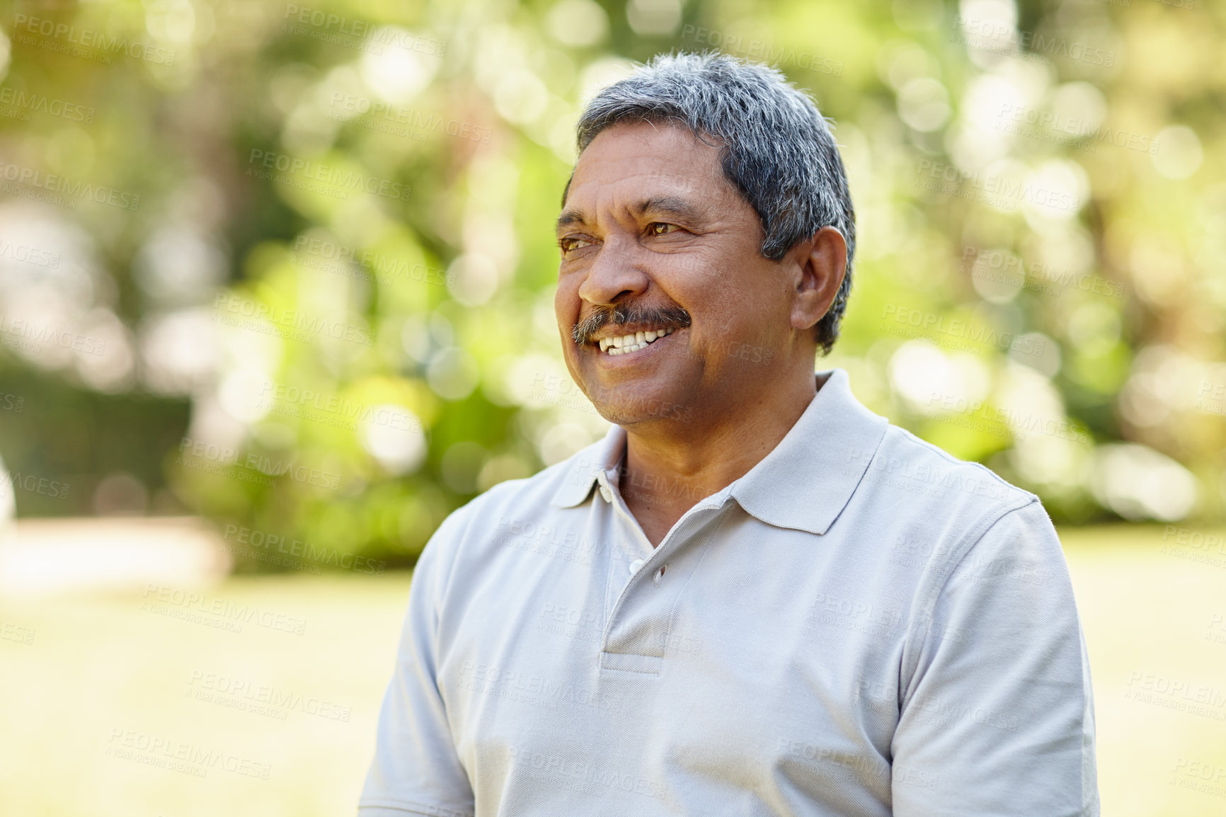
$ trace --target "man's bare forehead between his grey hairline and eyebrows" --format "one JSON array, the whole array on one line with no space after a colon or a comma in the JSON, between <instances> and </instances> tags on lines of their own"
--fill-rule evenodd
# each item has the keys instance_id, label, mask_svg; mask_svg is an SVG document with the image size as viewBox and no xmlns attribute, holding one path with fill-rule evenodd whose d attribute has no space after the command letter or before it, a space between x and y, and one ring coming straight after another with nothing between
<instances>
[{"instance_id":1,"label":"man's bare forehead between his grey hairline and eyebrows","mask_svg":"<svg viewBox=\"0 0 1226 817\"><path fill-rule=\"evenodd\" d=\"M600 207L679 194L707 200L733 193L723 178L720 148L710 141L668 123L612 125L579 156L566 206Z\"/></svg>"}]
</instances>

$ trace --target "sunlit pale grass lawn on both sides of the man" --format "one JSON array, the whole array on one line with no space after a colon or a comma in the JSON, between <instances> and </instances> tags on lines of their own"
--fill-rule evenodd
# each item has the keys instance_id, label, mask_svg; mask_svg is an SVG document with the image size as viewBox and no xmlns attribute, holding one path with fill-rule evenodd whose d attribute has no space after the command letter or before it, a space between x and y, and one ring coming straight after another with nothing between
<instances>
[{"instance_id":1,"label":"sunlit pale grass lawn on both sides of the man","mask_svg":"<svg viewBox=\"0 0 1226 817\"><path fill-rule=\"evenodd\" d=\"M1062 531L1114 817L1226 813L1226 554L1163 531ZM1217 562L1193 561L1206 553ZM202 595L0 602L0 815L354 813L408 578ZM213 605L255 615L242 632L170 615Z\"/></svg>"}]
</instances>

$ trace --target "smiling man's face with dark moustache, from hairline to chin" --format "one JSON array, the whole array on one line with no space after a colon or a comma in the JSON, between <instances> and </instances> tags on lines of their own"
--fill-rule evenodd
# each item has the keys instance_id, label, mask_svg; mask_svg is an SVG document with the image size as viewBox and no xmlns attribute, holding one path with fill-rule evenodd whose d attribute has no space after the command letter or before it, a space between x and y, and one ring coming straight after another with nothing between
<instances>
[{"instance_id":1,"label":"smiling man's face with dark moustache, from hairline to chin","mask_svg":"<svg viewBox=\"0 0 1226 817\"><path fill-rule=\"evenodd\" d=\"M770 362L793 331L788 281L761 256L758 213L725 179L718 148L689 130L601 131L575 166L558 239L566 367L606 420L723 415L781 374ZM651 331L669 334L646 342ZM622 348L601 348L614 337Z\"/></svg>"}]
</instances>

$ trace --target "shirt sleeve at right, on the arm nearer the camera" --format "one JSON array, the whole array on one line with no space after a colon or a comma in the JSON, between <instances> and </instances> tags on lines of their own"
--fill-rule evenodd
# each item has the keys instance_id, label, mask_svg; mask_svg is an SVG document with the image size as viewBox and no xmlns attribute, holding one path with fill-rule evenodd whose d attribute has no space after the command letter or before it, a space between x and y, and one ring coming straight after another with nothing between
<instances>
[{"instance_id":1,"label":"shirt sleeve at right, on the arm nearer the camera","mask_svg":"<svg viewBox=\"0 0 1226 817\"><path fill-rule=\"evenodd\" d=\"M966 552L916 637L893 745L897 817L1098 815L1085 642L1037 501Z\"/></svg>"}]
</instances>

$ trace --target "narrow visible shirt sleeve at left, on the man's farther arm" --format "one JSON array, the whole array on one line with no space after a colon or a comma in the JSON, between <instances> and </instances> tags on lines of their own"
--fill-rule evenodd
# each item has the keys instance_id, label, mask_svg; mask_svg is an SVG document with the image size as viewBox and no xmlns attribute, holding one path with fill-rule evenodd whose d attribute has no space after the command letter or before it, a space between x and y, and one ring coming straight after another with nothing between
<instances>
[{"instance_id":1,"label":"narrow visible shirt sleeve at left, on the man's farther arm","mask_svg":"<svg viewBox=\"0 0 1226 817\"><path fill-rule=\"evenodd\" d=\"M439 599L445 561L463 527L459 513L422 551L408 590L396 669L379 713L375 757L358 800L359 817L472 817L473 794L456 754L439 694Z\"/></svg>"}]
</instances>

